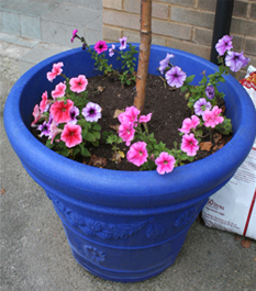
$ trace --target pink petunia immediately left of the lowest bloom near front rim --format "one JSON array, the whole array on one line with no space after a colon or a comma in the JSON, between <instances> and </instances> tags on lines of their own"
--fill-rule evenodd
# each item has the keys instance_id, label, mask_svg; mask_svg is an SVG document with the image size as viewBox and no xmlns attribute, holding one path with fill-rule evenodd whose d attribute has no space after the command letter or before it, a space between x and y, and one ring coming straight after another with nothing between
<instances>
[{"instance_id":1,"label":"pink petunia immediately left of the lowest bloom near front rim","mask_svg":"<svg viewBox=\"0 0 256 291\"><path fill-rule=\"evenodd\" d=\"M126 155L127 160L137 167L142 166L148 157L146 146L147 144L144 142L137 142L131 145Z\"/></svg>"}]
</instances>

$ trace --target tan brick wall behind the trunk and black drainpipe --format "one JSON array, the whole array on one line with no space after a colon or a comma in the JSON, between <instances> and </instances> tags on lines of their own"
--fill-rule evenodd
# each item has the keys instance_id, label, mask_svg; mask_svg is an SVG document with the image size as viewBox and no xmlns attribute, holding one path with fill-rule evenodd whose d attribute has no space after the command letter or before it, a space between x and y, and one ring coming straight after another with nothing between
<instances>
[{"instance_id":1,"label":"tan brick wall behind the trunk and black drainpipe","mask_svg":"<svg viewBox=\"0 0 256 291\"><path fill-rule=\"evenodd\" d=\"M153 0L152 43L210 59L216 0ZM103 38L140 42L141 0L102 0ZM256 66L256 0L235 0L231 34L236 52Z\"/></svg>"}]
</instances>

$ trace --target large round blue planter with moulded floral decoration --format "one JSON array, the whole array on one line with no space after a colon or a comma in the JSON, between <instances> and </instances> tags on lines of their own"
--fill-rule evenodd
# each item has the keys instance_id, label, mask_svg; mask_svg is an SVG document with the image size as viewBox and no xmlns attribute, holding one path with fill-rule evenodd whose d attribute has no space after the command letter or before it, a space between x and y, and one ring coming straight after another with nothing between
<instances>
[{"instance_id":1,"label":"large round blue planter with moulded floral decoration","mask_svg":"<svg viewBox=\"0 0 256 291\"><path fill-rule=\"evenodd\" d=\"M167 53L175 55L171 63L188 76L198 76L194 82L203 70L209 75L216 68L198 56L152 45L151 74L158 75L156 68ZM59 82L58 78L53 83L46 79L57 61L64 63L67 77L96 75L90 55L80 48L31 68L14 85L5 103L4 126L10 143L26 171L52 199L81 266L100 278L121 282L156 276L175 261L208 198L231 179L249 153L256 133L253 102L229 76L220 90L226 94L234 137L221 150L164 176L155 170L99 169L54 153L30 132L34 105L45 90L51 92Z\"/></svg>"}]
</instances>

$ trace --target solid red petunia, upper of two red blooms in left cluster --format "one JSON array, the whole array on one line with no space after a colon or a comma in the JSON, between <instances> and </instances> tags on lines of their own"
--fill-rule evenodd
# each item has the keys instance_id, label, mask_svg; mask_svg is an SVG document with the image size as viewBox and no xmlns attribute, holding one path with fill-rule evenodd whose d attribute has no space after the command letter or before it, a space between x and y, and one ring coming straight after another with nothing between
<instances>
[{"instance_id":1,"label":"solid red petunia, upper of two red blooms in left cluster","mask_svg":"<svg viewBox=\"0 0 256 291\"><path fill-rule=\"evenodd\" d=\"M66 123L70 121L69 111L73 108L74 102L71 100L67 101L56 101L52 104L49 113L57 123Z\"/></svg>"}]
</instances>

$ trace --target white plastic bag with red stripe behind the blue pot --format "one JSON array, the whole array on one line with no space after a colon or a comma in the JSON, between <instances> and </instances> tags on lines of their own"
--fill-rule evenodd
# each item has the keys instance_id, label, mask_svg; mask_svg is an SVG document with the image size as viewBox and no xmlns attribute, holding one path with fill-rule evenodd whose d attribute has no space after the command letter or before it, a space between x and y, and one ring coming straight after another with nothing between
<instances>
[{"instance_id":1,"label":"white plastic bag with red stripe behind the blue pot","mask_svg":"<svg viewBox=\"0 0 256 291\"><path fill-rule=\"evenodd\" d=\"M256 68L249 66L241 83L256 107ZM209 227L256 239L256 141L232 179L209 198L202 219Z\"/></svg>"}]
</instances>

